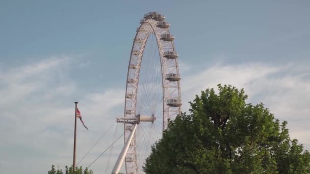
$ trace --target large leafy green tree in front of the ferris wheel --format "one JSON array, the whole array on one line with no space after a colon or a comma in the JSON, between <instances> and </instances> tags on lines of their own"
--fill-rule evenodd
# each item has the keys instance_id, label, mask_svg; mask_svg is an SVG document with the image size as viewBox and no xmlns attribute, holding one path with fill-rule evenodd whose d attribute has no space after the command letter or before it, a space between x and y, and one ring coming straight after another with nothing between
<instances>
[{"instance_id":1,"label":"large leafy green tree in front of the ferris wheel","mask_svg":"<svg viewBox=\"0 0 310 174\"><path fill-rule=\"evenodd\" d=\"M218 85L196 95L190 114L169 121L152 146L146 173L310 173L310 154L291 140L263 103L244 90Z\"/></svg>"}]
</instances>

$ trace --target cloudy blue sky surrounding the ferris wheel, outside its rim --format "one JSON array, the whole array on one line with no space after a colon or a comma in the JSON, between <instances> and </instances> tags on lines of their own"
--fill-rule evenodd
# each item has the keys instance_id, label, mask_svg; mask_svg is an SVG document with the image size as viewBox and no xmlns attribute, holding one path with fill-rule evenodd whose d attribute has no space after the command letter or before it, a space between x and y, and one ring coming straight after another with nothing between
<instances>
[{"instance_id":1,"label":"cloudy blue sky surrounding the ferris wheel, outside its rim","mask_svg":"<svg viewBox=\"0 0 310 174\"><path fill-rule=\"evenodd\" d=\"M1 171L71 164L74 101L91 128L79 127L81 159L123 113L133 38L149 11L164 14L176 37L184 111L201 90L235 85L310 150L309 9L309 1L0 1Z\"/></svg>"}]
</instances>

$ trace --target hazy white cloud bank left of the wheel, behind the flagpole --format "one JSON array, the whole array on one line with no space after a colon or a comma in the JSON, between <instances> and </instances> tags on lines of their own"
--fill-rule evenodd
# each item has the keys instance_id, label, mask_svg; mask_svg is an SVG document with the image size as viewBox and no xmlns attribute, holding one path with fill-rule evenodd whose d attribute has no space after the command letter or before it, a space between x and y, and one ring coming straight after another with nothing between
<instances>
[{"instance_id":1,"label":"hazy white cloud bank left of the wheel, behind the flagpole","mask_svg":"<svg viewBox=\"0 0 310 174\"><path fill-rule=\"evenodd\" d=\"M11 164L16 162L24 166L36 164L36 168L29 168L29 173L46 172L53 162L60 167L71 164L74 120L72 100L76 96L80 98L79 106L83 120L90 129L84 131L81 123L77 122L80 150L78 158L92 146L107 126L115 122L116 115L123 113L121 106L124 101L124 89L111 89L93 94L80 93L76 82L69 77L72 71L70 67L74 67L73 58L50 57L18 68L2 69L0 73L2 171L28 172L24 169L29 167L12 170ZM113 111L115 108L117 110ZM112 139L110 134L108 137ZM103 142L94 152L102 151L102 146L107 145L106 141Z\"/></svg>"}]
</instances>

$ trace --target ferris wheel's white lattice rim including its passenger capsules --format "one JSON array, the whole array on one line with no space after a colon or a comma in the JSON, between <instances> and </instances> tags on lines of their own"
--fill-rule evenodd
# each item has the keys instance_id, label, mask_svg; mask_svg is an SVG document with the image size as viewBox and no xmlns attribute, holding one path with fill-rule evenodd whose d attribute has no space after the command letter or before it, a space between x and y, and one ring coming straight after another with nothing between
<instances>
[{"instance_id":1,"label":"ferris wheel's white lattice rim including its passenger capsules","mask_svg":"<svg viewBox=\"0 0 310 174\"><path fill-rule=\"evenodd\" d=\"M165 21L165 17L157 12L150 12L144 15L140 20L140 26L137 28L137 34L134 39L131 50L130 62L126 80L125 110L124 118L137 118L137 96L139 91L139 76L142 57L145 45L150 35L156 38L157 48L160 59L161 85L162 85L162 130L167 128L168 119L174 119L181 111L180 94L180 75L178 70L178 54L174 47L174 37L170 34L170 24ZM155 40L155 39L154 39ZM147 59L144 57L143 59ZM143 113L141 113L143 114ZM138 173L137 156L137 136L136 132L132 135L133 129L136 130L136 122L124 121L124 140L132 137L130 145L126 150L124 158L126 173ZM151 147L149 147L150 149ZM138 150L139 151L139 150Z\"/></svg>"}]
</instances>

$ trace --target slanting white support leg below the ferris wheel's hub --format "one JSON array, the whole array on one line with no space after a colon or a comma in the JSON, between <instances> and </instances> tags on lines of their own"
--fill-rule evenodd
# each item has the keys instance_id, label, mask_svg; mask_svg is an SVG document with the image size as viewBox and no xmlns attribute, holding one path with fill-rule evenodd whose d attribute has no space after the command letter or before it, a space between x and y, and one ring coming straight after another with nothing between
<instances>
[{"instance_id":1,"label":"slanting white support leg below the ferris wheel's hub","mask_svg":"<svg viewBox=\"0 0 310 174\"><path fill-rule=\"evenodd\" d=\"M125 160L125 156L127 154L127 151L128 151L128 148L129 148L129 145L130 145L130 142L132 141L134 135L135 135L135 132L136 132L136 129L137 129L137 125L138 124L135 124L134 125L134 128L132 130L132 132L130 133L126 143L125 143L125 146L123 147L121 153L119 154L118 158L117 158L117 161L115 163L115 166L112 170L112 174L117 174L120 170L120 167L122 166L124 160Z\"/></svg>"}]
</instances>

